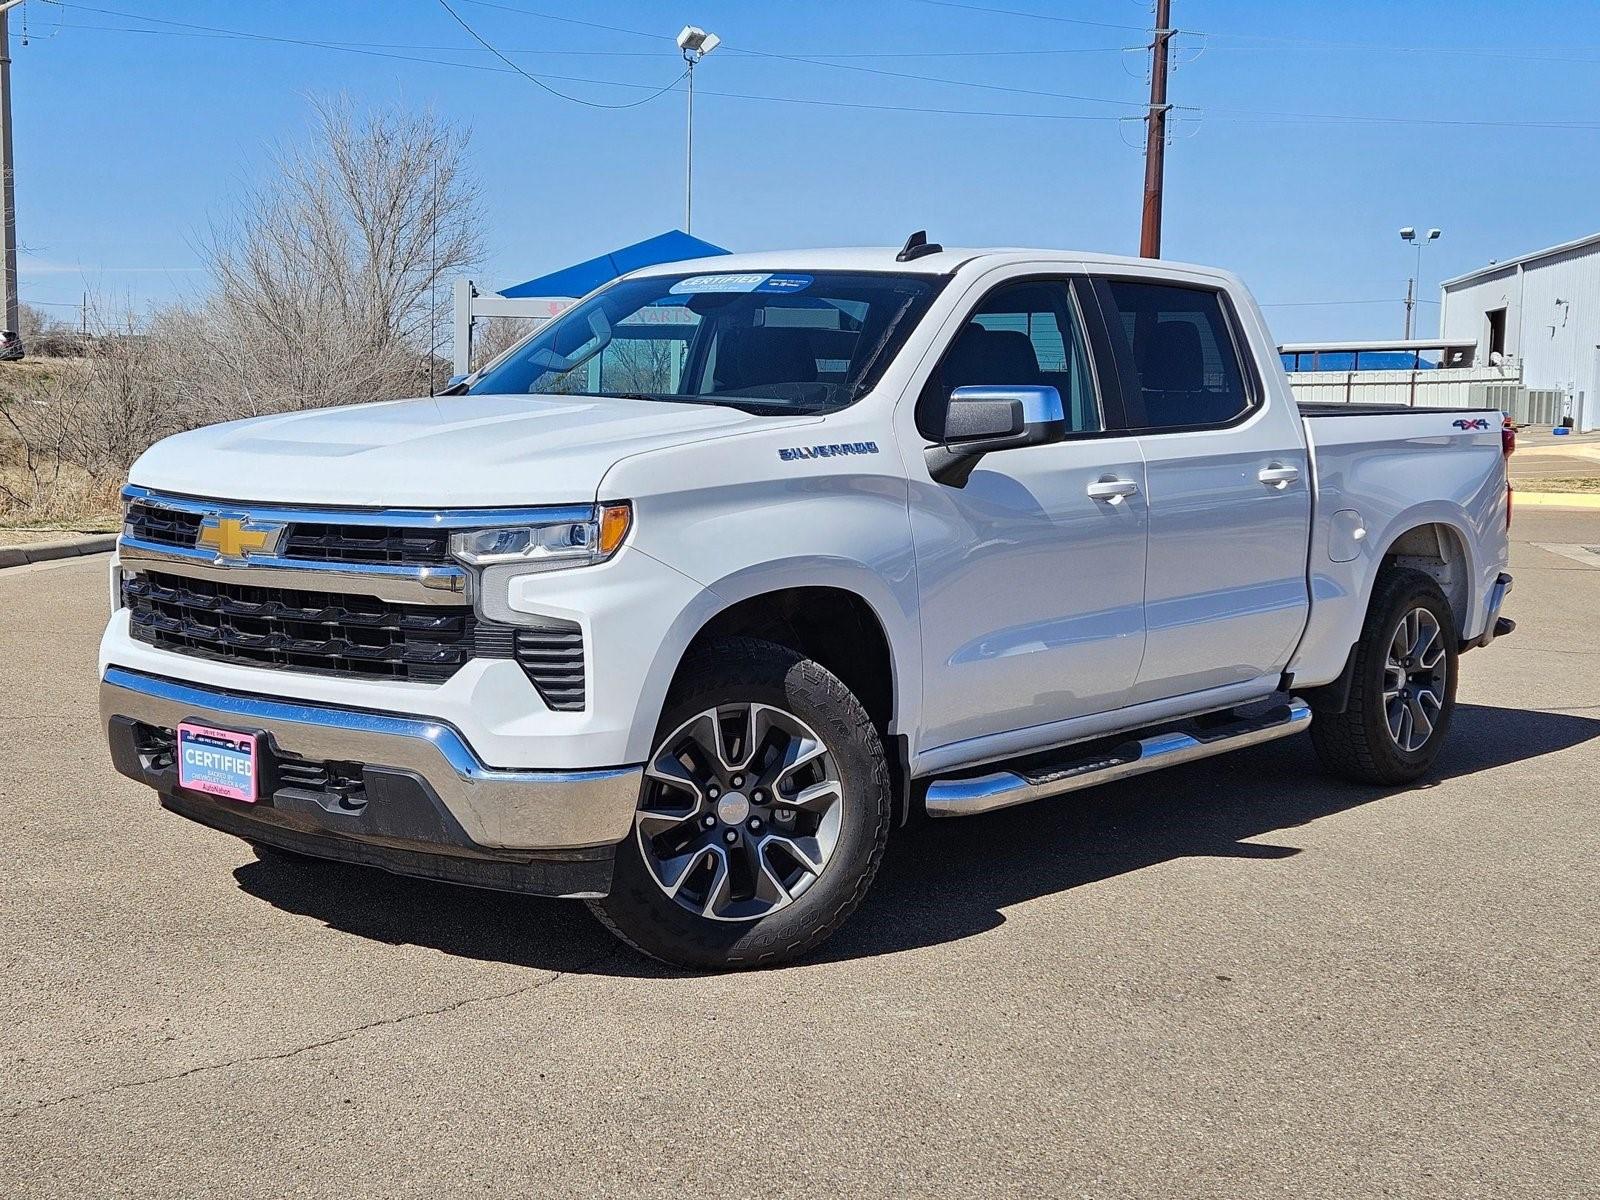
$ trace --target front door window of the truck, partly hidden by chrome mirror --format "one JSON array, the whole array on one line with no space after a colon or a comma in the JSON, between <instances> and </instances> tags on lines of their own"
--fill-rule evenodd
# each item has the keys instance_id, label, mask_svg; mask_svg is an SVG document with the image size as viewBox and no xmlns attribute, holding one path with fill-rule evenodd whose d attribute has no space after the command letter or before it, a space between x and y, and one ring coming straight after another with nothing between
<instances>
[{"instance_id":1,"label":"front door window of the truck, partly hidden by chrome mirror","mask_svg":"<svg viewBox=\"0 0 1600 1200\"><path fill-rule=\"evenodd\" d=\"M957 387L1045 386L1061 392L1067 427L1101 429L1094 376L1066 280L1003 283L950 342L917 400L917 430L930 442Z\"/></svg>"}]
</instances>

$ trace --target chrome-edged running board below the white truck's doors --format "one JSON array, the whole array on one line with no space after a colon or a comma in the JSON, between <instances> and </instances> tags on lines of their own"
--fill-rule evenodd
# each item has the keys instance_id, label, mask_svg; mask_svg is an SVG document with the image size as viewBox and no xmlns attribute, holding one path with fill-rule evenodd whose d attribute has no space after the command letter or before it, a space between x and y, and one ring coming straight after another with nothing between
<instances>
[{"instance_id":1,"label":"chrome-edged running board below the white truck's doors","mask_svg":"<svg viewBox=\"0 0 1600 1200\"><path fill-rule=\"evenodd\" d=\"M1112 779L1288 738L1309 725L1310 706L1294 696L1258 717L1213 728L1155 733L1086 758L1067 757L1074 749L1067 747L1058 762L1034 765L1026 771L1002 770L965 779L938 779L928 787L928 816L971 816L1078 792ZM1038 755L1030 755L1030 760L1037 758Z\"/></svg>"}]
</instances>

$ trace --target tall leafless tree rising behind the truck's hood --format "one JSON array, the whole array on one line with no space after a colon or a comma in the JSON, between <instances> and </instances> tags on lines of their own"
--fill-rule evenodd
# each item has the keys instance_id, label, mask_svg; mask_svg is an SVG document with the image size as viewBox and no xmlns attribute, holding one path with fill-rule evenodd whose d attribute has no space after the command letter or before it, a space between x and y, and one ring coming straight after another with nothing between
<instances>
[{"instance_id":1,"label":"tall leafless tree rising behind the truck's hood","mask_svg":"<svg viewBox=\"0 0 1600 1200\"><path fill-rule=\"evenodd\" d=\"M426 390L440 285L482 258L466 150L430 112L315 102L310 144L206 246L214 294L152 328L197 419Z\"/></svg>"}]
</instances>

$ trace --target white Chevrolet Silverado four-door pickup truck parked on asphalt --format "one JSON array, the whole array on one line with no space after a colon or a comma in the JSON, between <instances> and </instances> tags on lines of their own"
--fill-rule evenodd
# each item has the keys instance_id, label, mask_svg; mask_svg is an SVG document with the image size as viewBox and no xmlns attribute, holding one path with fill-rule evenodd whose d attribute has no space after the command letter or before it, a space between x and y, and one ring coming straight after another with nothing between
<instances>
[{"instance_id":1,"label":"white Chevrolet Silverado four-door pickup truck parked on asphalt","mask_svg":"<svg viewBox=\"0 0 1600 1200\"><path fill-rule=\"evenodd\" d=\"M805 954L893 830L1309 728L1400 784L1501 616L1498 413L1296 408L1222 270L741 254L454 394L131 472L117 768L251 842Z\"/></svg>"}]
</instances>

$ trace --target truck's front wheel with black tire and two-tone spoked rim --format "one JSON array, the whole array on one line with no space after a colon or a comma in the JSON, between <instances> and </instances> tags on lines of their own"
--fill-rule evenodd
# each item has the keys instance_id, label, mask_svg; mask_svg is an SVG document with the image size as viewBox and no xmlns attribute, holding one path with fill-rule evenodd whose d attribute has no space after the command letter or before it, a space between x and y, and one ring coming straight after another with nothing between
<instances>
[{"instance_id":1,"label":"truck's front wheel with black tire and two-tone spoked rim","mask_svg":"<svg viewBox=\"0 0 1600 1200\"><path fill-rule=\"evenodd\" d=\"M674 966L782 963L861 902L891 814L883 742L837 675L773 642L715 642L667 696L635 829L589 907Z\"/></svg>"}]
</instances>

